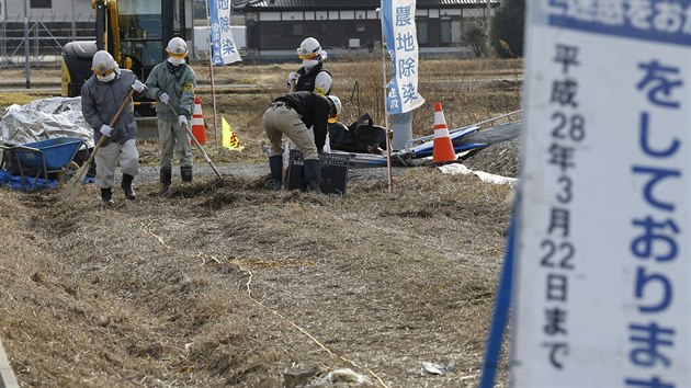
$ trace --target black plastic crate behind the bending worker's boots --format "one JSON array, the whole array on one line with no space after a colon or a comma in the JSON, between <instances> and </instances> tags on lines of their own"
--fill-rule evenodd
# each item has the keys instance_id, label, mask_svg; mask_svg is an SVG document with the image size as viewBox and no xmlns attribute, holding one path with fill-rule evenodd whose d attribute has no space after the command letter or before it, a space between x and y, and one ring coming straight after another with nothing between
<instances>
[{"instance_id":1,"label":"black plastic crate behind the bending worker's boots","mask_svg":"<svg viewBox=\"0 0 691 388\"><path fill-rule=\"evenodd\" d=\"M319 156L321 172L319 189L325 194L344 195L348 187L348 166L350 156L322 153ZM287 190L305 190L304 160L299 150L292 149L288 161Z\"/></svg>"}]
</instances>

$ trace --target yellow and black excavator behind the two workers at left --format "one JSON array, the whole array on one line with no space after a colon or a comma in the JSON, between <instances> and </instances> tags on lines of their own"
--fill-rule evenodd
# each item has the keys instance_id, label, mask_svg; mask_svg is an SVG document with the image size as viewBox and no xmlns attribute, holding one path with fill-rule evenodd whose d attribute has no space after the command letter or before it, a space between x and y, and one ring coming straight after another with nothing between
<instances>
[{"instance_id":1,"label":"yellow and black excavator behind the two workers at left","mask_svg":"<svg viewBox=\"0 0 691 388\"><path fill-rule=\"evenodd\" d=\"M92 0L95 41L70 42L63 48L63 96L78 96L91 77L91 59L105 49L121 68L143 82L167 58L166 45L174 36L192 37L192 0ZM188 46L192 47L191 42ZM140 138L157 137L155 102L135 100Z\"/></svg>"}]
</instances>

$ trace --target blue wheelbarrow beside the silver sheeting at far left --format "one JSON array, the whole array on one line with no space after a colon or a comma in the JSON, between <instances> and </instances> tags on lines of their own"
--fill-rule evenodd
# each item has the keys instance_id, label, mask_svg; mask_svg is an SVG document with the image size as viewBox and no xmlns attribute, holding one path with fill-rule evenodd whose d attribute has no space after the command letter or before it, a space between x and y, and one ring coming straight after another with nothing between
<instances>
[{"instance_id":1,"label":"blue wheelbarrow beside the silver sheeting at far left","mask_svg":"<svg viewBox=\"0 0 691 388\"><path fill-rule=\"evenodd\" d=\"M83 144L81 139L60 137L22 146L0 146L4 150L0 166L7 162L8 170L16 171L26 190L49 186L49 176L59 184L79 169L72 159Z\"/></svg>"}]
</instances>

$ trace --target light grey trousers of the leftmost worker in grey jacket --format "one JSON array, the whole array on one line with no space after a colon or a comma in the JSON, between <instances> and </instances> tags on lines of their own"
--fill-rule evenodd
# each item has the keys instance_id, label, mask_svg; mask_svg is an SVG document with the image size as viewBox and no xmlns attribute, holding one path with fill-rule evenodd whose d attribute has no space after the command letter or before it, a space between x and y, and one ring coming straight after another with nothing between
<instances>
[{"instance_id":1,"label":"light grey trousers of the leftmost worker in grey jacket","mask_svg":"<svg viewBox=\"0 0 691 388\"><path fill-rule=\"evenodd\" d=\"M110 142L99 148L94 160L97 162L95 184L100 189L109 189L115 183L115 167L120 158L120 171L123 174L136 175L139 173L139 151L137 140L129 139L124 144Z\"/></svg>"}]
</instances>

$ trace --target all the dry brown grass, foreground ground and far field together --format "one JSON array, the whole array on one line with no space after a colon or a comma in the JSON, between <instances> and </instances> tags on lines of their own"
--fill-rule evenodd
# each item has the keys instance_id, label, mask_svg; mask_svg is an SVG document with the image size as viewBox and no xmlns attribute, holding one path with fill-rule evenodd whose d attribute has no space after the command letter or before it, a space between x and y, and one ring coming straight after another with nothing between
<instances>
[{"instance_id":1,"label":"all the dry brown grass, foreground ground and far field together","mask_svg":"<svg viewBox=\"0 0 691 388\"><path fill-rule=\"evenodd\" d=\"M415 136L432 133L434 101L451 128L518 110L520 67L423 61L429 103L414 114ZM196 68L206 149L222 171L267 163L261 114L295 68L214 70L217 113L242 152L214 145L208 70ZM381 61L329 68L344 122L370 113L383 125ZM21 78L7 71L0 106L36 96L3 92ZM57 75L42 71L35 79ZM248 87L222 87L231 83ZM490 148L475 168L517 171L516 150ZM140 150L155 166L156 145ZM371 170L351 170L342 197L269 191L268 166L222 182L200 172L170 197L147 195L156 180L139 179L136 201L117 190L107 209L93 185L67 199L60 189L0 187L0 340L21 386L477 386L510 189L418 167L399 169L389 192L385 169Z\"/></svg>"}]
</instances>

